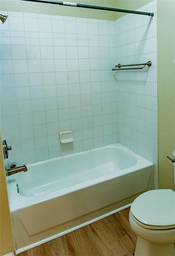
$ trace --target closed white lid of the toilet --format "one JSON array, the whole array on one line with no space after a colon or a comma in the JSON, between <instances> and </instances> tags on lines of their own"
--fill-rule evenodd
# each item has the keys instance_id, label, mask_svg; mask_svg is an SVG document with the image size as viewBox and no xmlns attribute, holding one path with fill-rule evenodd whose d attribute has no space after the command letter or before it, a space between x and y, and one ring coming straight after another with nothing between
<instances>
[{"instance_id":1,"label":"closed white lid of the toilet","mask_svg":"<svg viewBox=\"0 0 175 256\"><path fill-rule=\"evenodd\" d=\"M147 191L134 200L130 210L145 225L175 225L175 192L171 189Z\"/></svg>"}]
</instances>

